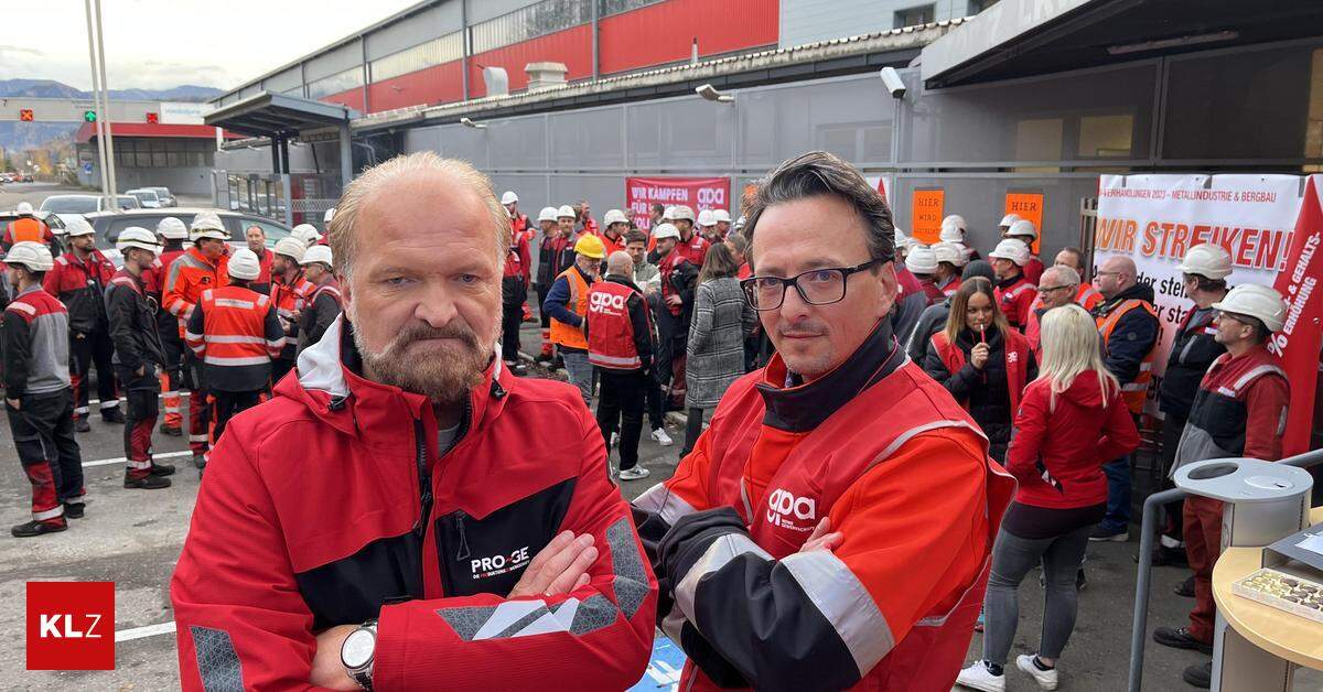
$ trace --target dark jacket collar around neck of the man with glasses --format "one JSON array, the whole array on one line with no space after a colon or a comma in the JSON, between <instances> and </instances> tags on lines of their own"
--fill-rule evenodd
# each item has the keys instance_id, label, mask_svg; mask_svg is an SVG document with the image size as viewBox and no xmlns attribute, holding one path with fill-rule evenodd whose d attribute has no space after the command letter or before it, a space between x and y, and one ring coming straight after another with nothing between
<instances>
[{"instance_id":1,"label":"dark jacket collar around neck of the man with glasses","mask_svg":"<svg viewBox=\"0 0 1323 692\"><path fill-rule=\"evenodd\" d=\"M844 363L812 382L803 384L786 368L781 355L774 355L757 385L767 409L763 425L791 433L814 430L906 360L905 349L892 336L888 319L882 319Z\"/></svg>"}]
</instances>

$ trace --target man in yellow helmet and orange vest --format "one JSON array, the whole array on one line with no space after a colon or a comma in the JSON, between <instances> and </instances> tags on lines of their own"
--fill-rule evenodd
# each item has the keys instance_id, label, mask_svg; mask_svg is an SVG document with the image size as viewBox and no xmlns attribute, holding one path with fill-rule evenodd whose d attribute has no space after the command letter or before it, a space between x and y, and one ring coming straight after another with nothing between
<instances>
[{"instance_id":1,"label":"man in yellow helmet and orange vest","mask_svg":"<svg viewBox=\"0 0 1323 692\"><path fill-rule=\"evenodd\" d=\"M552 343L570 384L579 389L583 405L593 408L593 367L587 363L587 336L583 318L587 316L587 290L597 281L606 253L602 239L583 233L574 243L574 265L556 277L546 292L542 311L552 318Z\"/></svg>"}]
</instances>

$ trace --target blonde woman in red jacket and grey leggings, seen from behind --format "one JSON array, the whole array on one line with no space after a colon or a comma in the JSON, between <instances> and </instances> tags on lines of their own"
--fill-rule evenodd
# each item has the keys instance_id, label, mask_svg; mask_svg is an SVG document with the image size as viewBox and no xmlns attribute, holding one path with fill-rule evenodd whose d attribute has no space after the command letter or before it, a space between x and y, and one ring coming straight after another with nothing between
<instances>
[{"instance_id":1,"label":"blonde woman in red jacket and grey leggings, seen from behind","mask_svg":"<svg viewBox=\"0 0 1323 692\"><path fill-rule=\"evenodd\" d=\"M1016 667L1043 689L1057 687L1057 658L1074 628L1076 574L1089 532L1107 507L1102 464L1139 446L1139 433L1121 400L1121 385L1102 364L1098 328L1080 306L1043 316L1043 365L1015 417L1007 470L1020 482L992 548L992 574L983 602L983 660L957 683L1000 692L1003 666L1020 618L1016 590L1040 562L1046 602L1039 652Z\"/></svg>"}]
</instances>

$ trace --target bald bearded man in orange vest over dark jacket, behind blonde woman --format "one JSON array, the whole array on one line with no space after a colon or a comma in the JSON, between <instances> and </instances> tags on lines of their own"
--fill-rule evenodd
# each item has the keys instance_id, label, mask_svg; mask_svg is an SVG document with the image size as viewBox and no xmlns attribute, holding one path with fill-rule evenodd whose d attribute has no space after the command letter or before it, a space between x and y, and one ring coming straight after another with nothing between
<instances>
[{"instance_id":1,"label":"bald bearded man in orange vest over dark jacket, behind blonde woman","mask_svg":"<svg viewBox=\"0 0 1323 692\"><path fill-rule=\"evenodd\" d=\"M1154 308L1154 290L1139 283L1135 262L1129 257L1109 257L1093 278L1103 302L1093 311L1102 335L1103 364L1121 381L1121 397L1139 426L1148 382L1152 381L1154 355L1162 328ZM1130 456L1102 467L1107 474L1107 513L1094 529L1091 541L1130 540Z\"/></svg>"}]
</instances>

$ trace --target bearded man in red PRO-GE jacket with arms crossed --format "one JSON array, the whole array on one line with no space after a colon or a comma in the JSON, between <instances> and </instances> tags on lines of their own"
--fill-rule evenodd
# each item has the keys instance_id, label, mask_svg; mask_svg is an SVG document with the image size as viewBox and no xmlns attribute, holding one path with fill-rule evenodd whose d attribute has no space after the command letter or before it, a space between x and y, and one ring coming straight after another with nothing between
<instances>
[{"instance_id":1,"label":"bearded man in red PRO-GE jacket with arms crossed","mask_svg":"<svg viewBox=\"0 0 1323 692\"><path fill-rule=\"evenodd\" d=\"M624 689L656 581L573 388L495 343L509 217L470 164L355 180L344 314L212 455L171 589L184 689Z\"/></svg>"}]
</instances>

